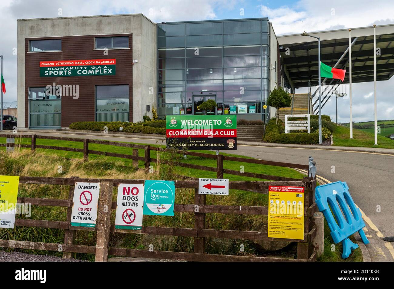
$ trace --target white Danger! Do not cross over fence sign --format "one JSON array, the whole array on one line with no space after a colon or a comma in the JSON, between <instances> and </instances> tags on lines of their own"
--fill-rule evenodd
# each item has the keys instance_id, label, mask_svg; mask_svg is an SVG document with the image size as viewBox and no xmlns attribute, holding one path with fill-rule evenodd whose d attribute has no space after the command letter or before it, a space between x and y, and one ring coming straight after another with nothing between
<instances>
[{"instance_id":1,"label":"white Danger! Do not cross over fence sign","mask_svg":"<svg viewBox=\"0 0 394 289\"><path fill-rule=\"evenodd\" d=\"M71 211L71 226L95 227L100 183L76 182Z\"/></svg>"}]
</instances>

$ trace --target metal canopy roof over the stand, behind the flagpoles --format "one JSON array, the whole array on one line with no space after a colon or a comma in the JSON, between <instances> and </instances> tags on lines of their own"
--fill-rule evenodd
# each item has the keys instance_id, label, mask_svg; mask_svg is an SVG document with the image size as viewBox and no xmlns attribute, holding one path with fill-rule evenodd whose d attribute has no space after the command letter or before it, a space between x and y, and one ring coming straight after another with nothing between
<instances>
[{"instance_id":1,"label":"metal canopy roof over the stand, behind the flagpoles","mask_svg":"<svg viewBox=\"0 0 394 289\"><path fill-rule=\"evenodd\" d=\"M300 32L301 33L301 32ZM349 30L311 32L321 39L321 60L333 67L349 47ZM358 37L351 48L352 81L374 81L374 29L351 29L351 40ZM284 69L288 72L294 87L308 87L309 80L318 85L318 41L299 34L277 37ZM377 80L388 80L394 74L394 25L376 26ZM286 48L288 53L286 53ZM346 53L336 68L346 69L344 83L349 83L349 53ZM342 81L340 81L342 83Z\"/></svg>"}]
</instances>

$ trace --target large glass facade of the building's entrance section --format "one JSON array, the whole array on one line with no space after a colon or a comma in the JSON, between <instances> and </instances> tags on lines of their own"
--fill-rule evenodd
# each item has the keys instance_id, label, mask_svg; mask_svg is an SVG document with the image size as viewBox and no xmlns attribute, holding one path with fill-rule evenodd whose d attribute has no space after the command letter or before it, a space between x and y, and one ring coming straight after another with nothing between
<instances>
[{"instance_id":1,"label":"large glass facade of the building's entrance section","mask_svg":"<svg viewBox=\"0 0 394 289\"><path fill-rule=\"evenodd\" d=\"M269 94L267 18L158 24L157 106L159 118L203 112L265 120Z\"/></svg>"}]
</instances>

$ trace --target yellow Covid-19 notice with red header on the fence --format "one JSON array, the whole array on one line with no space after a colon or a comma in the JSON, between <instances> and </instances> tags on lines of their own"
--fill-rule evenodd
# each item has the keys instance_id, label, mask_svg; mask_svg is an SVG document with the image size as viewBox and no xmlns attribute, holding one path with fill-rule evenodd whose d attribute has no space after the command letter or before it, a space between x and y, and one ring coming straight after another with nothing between
<instances>
[{"instance_id":1,"label":"yellow Covid-19 notice with red header on the fence","mask_svg":"<svg viewBox=\"0 0 394 289\"><path fill-rule=\"evenodd\" d=\"M269 186L268 237L304 239L304 187Z\"/></svg>"}]
</instances>

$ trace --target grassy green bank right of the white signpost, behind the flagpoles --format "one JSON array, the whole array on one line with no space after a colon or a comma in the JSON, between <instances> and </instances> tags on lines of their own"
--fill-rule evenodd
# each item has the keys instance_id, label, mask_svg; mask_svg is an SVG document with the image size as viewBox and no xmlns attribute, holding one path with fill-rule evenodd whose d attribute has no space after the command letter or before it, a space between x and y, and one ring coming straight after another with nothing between
<instances>
[{"instance_id":1,"label":"grassy green bank right of the white signpost, behind the flagpoles","mask_svg":"<svg viewBox=\"0 0 394 289\"><path fill-rule=\"evenodd\" d=\"M383 149L394 149L394 140L378 135L378 145L374 145L374 134L360 129L353 129L353 139L350 139L350 129L342 125L336 126L333 133L333 141L334 145L343 147L377 147Z\"/></svg>"}]
</instances>

